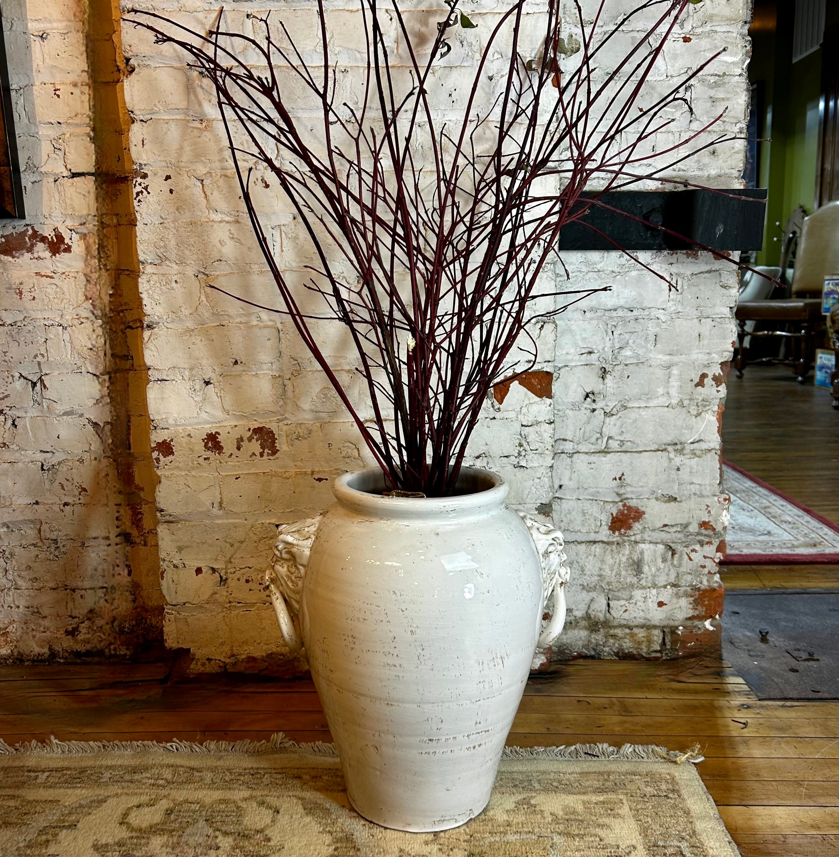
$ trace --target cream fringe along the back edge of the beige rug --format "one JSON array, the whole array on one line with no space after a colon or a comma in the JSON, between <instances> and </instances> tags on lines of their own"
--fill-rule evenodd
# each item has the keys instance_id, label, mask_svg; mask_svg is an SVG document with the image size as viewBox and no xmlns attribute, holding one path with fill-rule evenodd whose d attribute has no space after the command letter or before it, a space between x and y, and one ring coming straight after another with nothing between
<instances>
[{"instance_id":1,"label":"cream fringe along the back edge of the beige rug","mask_svg":"<svg viewBox=\"0 0 839 857\"><path fill-rule=\"evenodd\" d=\"M176 738L168 742L159 741L59 741L53 735L50 740L25 741L22 744L7 744L0 738L0 756L13 756L19 753L33 753L39 756L76 756L103 752L174 752L181 754L209 755L211 753L232 752L244 755L264 753L304 752L324 758L338 758L334 744L315 741L298 744L286 738L282 732L275 732L270 740L252 741L184 741ZM686 752L668 750L655 744L624 744L621 747L610 744L574 744L572 746L545 747L505 747L501 758L567 758L567 759L614 759L627 762L701 762L704 756L699 753L699 745L692 746Z\"/></svg>"}]
</instances>

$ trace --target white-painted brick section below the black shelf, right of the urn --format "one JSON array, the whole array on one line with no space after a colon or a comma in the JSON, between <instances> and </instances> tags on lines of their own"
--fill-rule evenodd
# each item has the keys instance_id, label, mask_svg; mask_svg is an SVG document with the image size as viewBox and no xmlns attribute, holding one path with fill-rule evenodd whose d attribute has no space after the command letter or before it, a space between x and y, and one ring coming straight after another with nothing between
<instances>
[{"instance_id":1,"label":"white-painted brick section below the black shelf, right of the urn","mask_svg":"<svg viewBox=\"0 0 839 857\"><path fill-rule=\"evenodd\" d=\"M572 282L614 291L558 324L553 511L577 572L561 655L670 655L716 635L737 279L710 254L643 260L679 291L611 253L565 255Z\"/></svg>"}]
</instances>

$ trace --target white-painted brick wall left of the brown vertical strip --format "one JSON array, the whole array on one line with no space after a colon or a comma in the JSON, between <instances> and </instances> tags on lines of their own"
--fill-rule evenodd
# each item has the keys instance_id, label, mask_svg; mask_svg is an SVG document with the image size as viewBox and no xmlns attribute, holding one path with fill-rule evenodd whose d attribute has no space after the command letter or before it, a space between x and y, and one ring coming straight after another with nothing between
<instances>
[{"instance_id":1,"label":"white-painted brick wall left of the brown vertical strip","mask_svg":"<svg viewBox=\"0 0 839 857\"><path fill-rule=\"evenodd\" d=\"M82 0L3 0L27 219L0 225L0 658L122 655Z\"/></svg>"}]
</instances>

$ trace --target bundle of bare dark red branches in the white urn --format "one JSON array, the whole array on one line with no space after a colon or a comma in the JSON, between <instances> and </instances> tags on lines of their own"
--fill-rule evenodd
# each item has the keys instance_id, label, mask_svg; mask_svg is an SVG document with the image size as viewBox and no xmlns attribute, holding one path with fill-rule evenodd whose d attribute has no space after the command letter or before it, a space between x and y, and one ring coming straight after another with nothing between
<instances>
[{"instance_id":1,"label":"bundle of bare dark red branches in the white urn","mask_svg":"<svg viewBox=\"0 0 839 857\"><path fill-rule=\"evenodd\" d=\"M258 21L258 37L226 32L222 14L206 35L153 13L129 19L178 45L212 81L282 298L275 311L297 328L393 488L451 494L492 387L536 363L528 326L603 291L546 286L546 266L561 265L563 225L604 205L602 193L672 181L664 175L685 159L736 139L706 139L720 114L656 148L686 110L692 81L718 56L670 86L650 87L691 2L647 0L608 27L606 0L589 22L576 3L563 35L559 0L546 0L537 43L525 45L532 16L525 0L514 0L482 34L470 80L458 69L453 107L441 104L440 75L452 72L440 59L452 51L452 33L476 26L458 0L446 0L425 41L411 33L398 0L384 9L360 0L367 63L352 91L330 56L323 0L312 12L316 62L269 15ZM388 43L391 27L404 60ZM628 27L638 36L621 53ZM301 91L306 111L291 104ZM254 165L276 177L314 251L303 286L273 253L252 196ZM591 189L597 193L581 196ZM313 299L321 309L310 311ZM359 416L324 357L325 320L350 334L373 420Z\"/></svg>"}]
</instances>

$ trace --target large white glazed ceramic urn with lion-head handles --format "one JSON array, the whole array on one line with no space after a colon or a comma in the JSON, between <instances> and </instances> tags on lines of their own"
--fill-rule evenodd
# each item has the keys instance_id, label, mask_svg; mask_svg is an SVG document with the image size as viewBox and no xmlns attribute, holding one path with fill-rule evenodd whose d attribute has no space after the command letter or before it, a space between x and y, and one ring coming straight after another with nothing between
<instances>
[{"instance_id":1,"label":"large white glazed ceramic urn with lion-head handles","mask_svg":"<svg viewBox=\"0 0 839 857\"><path fill-rule=\"evenodd\" d=\"M561 536L487 470L464 468L446 498L382 496L378 468L333 490L322 516L279 528L267 579L285 642L305 644L357 812L464 824L487 805L536 645L561 631Z\"/></svg>"}]
</instances>

